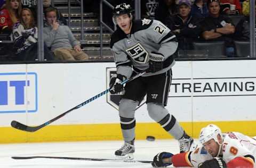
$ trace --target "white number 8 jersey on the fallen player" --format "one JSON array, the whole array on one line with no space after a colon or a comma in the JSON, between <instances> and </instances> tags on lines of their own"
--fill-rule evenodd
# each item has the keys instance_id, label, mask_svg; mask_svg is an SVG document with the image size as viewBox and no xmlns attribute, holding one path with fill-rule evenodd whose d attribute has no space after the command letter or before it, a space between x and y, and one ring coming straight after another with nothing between
<instances>
[{"instance_id":1,"label":"white number 8 jersey on the fallen player","mask_svg":"<svg viewBox=\"0 0 256 168\"><path fill-rule=\"evenodd\" d=\"M256 139L243 135L239 132L223 133L222 159L226 163L236 157L245 157L253 162L256 158ZM198 147L190 154L190 163L197 167L199 163L212 159L213 157L204 149ZM256 165L254 164L254 168Z\"/></svg>"}]
</instances>

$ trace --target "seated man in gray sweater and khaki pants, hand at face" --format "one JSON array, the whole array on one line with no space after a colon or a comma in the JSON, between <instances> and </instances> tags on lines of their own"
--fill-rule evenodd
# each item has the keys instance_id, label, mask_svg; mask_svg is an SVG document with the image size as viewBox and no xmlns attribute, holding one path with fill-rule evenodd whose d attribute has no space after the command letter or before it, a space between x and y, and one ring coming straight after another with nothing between
<instances>
[{"instance_id":1,"label":"seated man in gray sweater and khaki pants, hand at face","mask_svg":"<svg viewBox=\"0 0 256 168\"><path fill-rule=\"evenodd\" d=\"M57 22L57 13L54 7L45 10L47 27L44 27L44 41L47 47L51 47L57 60L88 60L69 27Z\"/></svg>"}]
</instances>

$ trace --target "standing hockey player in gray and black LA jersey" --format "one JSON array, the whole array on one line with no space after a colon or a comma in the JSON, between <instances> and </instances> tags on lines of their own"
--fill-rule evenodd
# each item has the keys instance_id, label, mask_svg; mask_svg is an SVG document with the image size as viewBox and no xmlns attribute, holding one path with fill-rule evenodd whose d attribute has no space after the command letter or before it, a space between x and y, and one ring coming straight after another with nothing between
<instances>
[{"instance_id":1,"label":"standing hockey player in gray and black LA jersey","mask_svg":"<svg viewBox=\"0 0 256 168\"><path fill-rule=\"evenodd\" d=\"M110 93L124 90L119 103L119 116L124 145L115 155L132 159L135 139L135 108L147 95L149 116L179 141L180 152L189 150L193 139L179 122L166 110L167 97L172 79L172 66L177 54L178 42L163 23L157 20L132 20L132 9L125 3L114 9L113 20L117 30L111 36L111 49L115 55L117 75L110 79ZM125 87L121 82L132 75L146 71Z\"/></svg>"}]
</instances>

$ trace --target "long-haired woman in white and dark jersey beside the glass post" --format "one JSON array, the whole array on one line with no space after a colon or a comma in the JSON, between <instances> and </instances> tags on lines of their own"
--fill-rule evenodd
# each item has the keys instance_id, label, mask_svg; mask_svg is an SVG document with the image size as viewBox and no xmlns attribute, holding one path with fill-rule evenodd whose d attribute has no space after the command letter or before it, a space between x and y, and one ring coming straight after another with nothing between
<instances>
[{"instance_id":1,"label":"long-haired woman in white and dark jersey beside the glass post","mask_svg":"<svg viewBox=\"0 0 256 168\"><path fill-rule=\"evenodd\" d=\"M21 10L20 22L13 27L13 48L20 61L34 61L37 58L37 27L34 22L33 13L24 8ZM45 46L44 57L53 60L53 54Z\"/></svg>"}]
</instances>

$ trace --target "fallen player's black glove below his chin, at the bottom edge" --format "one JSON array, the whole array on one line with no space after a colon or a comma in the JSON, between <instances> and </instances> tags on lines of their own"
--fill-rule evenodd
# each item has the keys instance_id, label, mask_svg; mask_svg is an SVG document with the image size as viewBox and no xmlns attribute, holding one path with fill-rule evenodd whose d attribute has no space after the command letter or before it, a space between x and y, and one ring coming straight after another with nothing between
<instances>
[{"instance_id":1,"label":"fallen player's black glove below his chin, at the bottom edge","mask_svg":"<svg viewBox=\"0 0 256 168\"><path fill-rule=\"evenodd\" d=\"M198 168L226 168L227 164L222 158L214 157L198 165Z\"/></svg>"}]
</instances>

